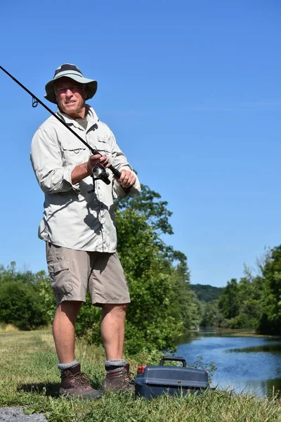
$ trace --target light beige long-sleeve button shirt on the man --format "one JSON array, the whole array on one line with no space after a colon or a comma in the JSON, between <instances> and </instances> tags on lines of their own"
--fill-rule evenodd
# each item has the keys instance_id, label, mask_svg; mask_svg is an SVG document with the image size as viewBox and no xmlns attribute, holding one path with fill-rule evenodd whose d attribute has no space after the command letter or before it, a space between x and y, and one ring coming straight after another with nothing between
<instances>
[{"instance_id":1,"label":"light beige long-sleeve button shirt on the man","mask_svg":"<svg viewBox=\"0 0 281 422\"><path fill-rule=\"evenodd\" d=\"M91 147L101 155L107 155L117 170L132 171L115 136L98 120L93 108L87 106L86 129L60 110L57 114ZM117 234L113 198L124 198L126 193L110 170L107 170L110 185L97 180L94 193L91 176L72 184L72 170L87 162L90 155L89 148L53 116L37 129L30 157L37 181L45 193L39 238L75 250L115 252ZM135 195L140 190L137 178L129 194Z\"/></svg>"}]
</instances>

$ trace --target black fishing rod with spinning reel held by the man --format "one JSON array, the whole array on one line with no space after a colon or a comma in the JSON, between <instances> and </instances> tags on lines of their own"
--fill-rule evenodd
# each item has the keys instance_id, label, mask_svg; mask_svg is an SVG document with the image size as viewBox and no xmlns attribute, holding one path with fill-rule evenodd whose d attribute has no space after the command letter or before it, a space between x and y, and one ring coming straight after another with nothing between
<instances>
[{"instance_id":1,"label":"black fishing rod with spinning reel held by the man","mask_svg":"<svg viewBox=\"0 0 281 422\"><path fill-rule=\"evenodd\" d=\"M46 108L46 110L49 112L49 113L51 113L51 115L53 115L53 117L55 117L57 120L59 120L59 122L60 123L62 123L63 124L63 126L65 126L65 127L67 127L67 129L68 130L70 130L70 132L72 133L72 134L74 134L78 139L79 139L79 141L81 141L82 143L84 143L84 145L86 146L86 147L88 147L89 148L89 150L91 151L91 153L93 154L93 155L96 155L96 154L99 154L99 155L101 155L99 152L98 152L98 150L96 150L95 148L92 148L90 145L89 145L89 143L87 143L86 141L84 141L84 139L82 139L81 138L81 136L79 136L76 132L74 132L74 130L73 129L71 129L71 127L69 127L64 121L63 121L63 119L60 119L60 117L58 117L58 115L56 115L55 113L53 113L53 111L51 110L51 108L48 108L48 106L46 106L46 104L44 104L41 100L39 100L39 98L37 98L37 96L34 96L34 94L32 94L32 92L29 90L29 89L27 89L26 87L25 87L25 85L22 85L19 81L18 81L18 79L15 79L15 77L13 77L13 75L11 75L11 73L9 73L9 72L7 72L7 70L6 69L4 69L4 68L2 68L2 66L0 66L0 69L1 70L3 70L3 72L5 72L9 77L11 77L11 79L13 79L13 81L15 81L18 85L20 85L20 87L22 88L22 89L24 89L25 91L27 91L27 93L28 94L30 94L30 96L32 96L32 107L33 108L35 108L35 107L37 107L38 106L38 103L39 104L41 104L41 106L43 106L44 108ZM96 167L98 167L98 169L100 169L100 170L98 170ZM119 170L117 170L115 167L113 167L113 165L112 164L110 164L110 166L109 167L107 167L107 168L109 168L111 171L112 171L112 173L117 177L117 179L119 179L119 177L121 177L121 173L119 172ZM103 181L105 181L105 183L106 184L110 184L110 181L108 181L108 174L107 174L107 172L105 171L105 167L99 167L99 166L95 166L95 167L93 167L93 169L95 169L94 171L93 171L93 176L96 176L96 178L97 179L102 179Z\"/></svg>"}]
</instances>

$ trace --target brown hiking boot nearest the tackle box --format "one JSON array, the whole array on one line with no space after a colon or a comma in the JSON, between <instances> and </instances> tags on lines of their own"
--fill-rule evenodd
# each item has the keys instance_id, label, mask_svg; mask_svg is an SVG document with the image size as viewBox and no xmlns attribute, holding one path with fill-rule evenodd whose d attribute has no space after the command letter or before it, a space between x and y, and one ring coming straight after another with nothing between
<instances>
[{"instance_id":1,"label":"brown hiking boot nearest the tackle box","mask_svg":"<svg viewBox=\"0 0 281 422\"><path fill-rule=\"evenodd\" d=\"M122 368L107 371L105 381L103 381L103 388L105 389L105 392L134 392L135 385L132 380L133 373L130 372L130 365L126 364Z\"/></svg>"}]
</instances>

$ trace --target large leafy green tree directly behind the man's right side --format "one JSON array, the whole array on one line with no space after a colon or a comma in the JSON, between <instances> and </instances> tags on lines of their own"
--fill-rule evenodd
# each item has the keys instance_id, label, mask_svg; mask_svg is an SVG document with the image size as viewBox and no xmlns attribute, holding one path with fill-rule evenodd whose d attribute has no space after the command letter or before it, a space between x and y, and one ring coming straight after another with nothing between
<instances>
[{"instance_id":1,"label":"large leafy green tree directly behind the man's right side","mask_svg":"<svg viewBox=\"0 0 281 422\"><path fill-rule=\"evenodd\" d=\"M160 238L173 233L168 219L171 212L160 198L142 186L140 196L117 203L116 221L118 253L132 299L126 344L130 344L130 330L136 338L138 327L141 343L148 344L151 338L161 350L174 347L182 331L199 326L200 307L190 290L187 258Z\"/></svg>"}]
</instances>

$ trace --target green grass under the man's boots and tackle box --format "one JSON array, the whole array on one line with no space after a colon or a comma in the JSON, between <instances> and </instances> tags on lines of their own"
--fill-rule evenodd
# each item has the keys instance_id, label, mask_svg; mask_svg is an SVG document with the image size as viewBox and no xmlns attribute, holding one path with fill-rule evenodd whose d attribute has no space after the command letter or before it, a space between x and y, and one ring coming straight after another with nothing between
<instances>
[{"instance_id":1,"label":"green grass under the man's boots and tackle box","mask_svg":"<svg viewBox=\"0 0 281 422\"><path fill-rule=\"evenodd\" d=\"M95 388L103 382L104 358L102 348L77 343L77 359ZM136 371L145 357L130 362ZM1 335L0 407L22 406L27 414L41 412L50 422L281 422L280 398L223 391L150 401L128 393L107 393L98 400L60 398L56 365L50 329Z\"/></svg>"}]
</instances>

